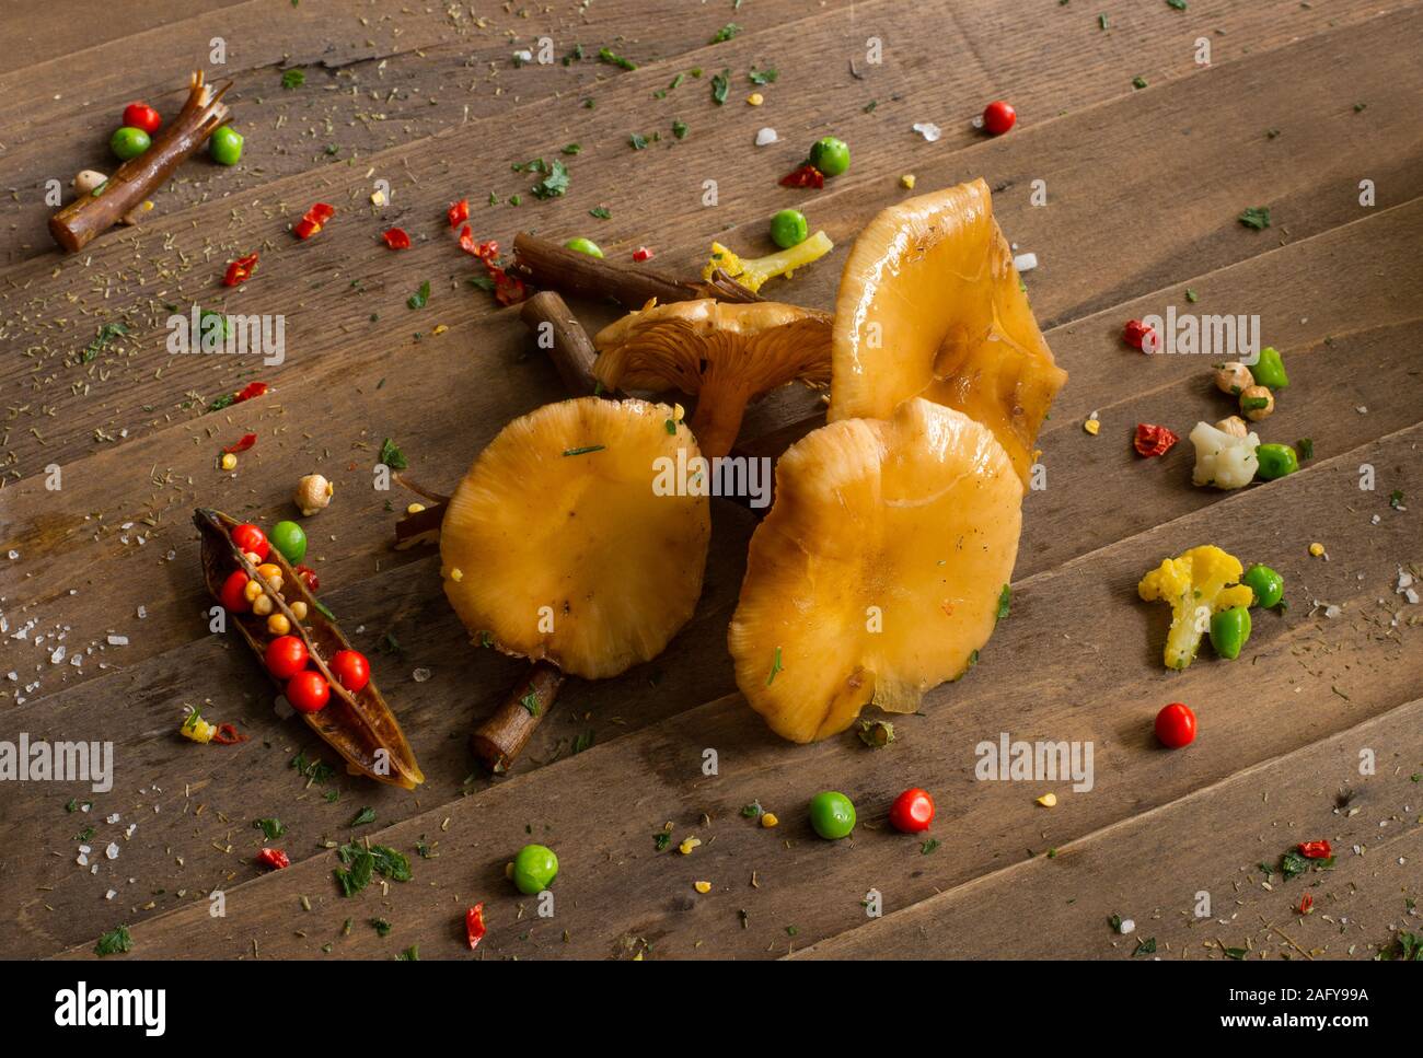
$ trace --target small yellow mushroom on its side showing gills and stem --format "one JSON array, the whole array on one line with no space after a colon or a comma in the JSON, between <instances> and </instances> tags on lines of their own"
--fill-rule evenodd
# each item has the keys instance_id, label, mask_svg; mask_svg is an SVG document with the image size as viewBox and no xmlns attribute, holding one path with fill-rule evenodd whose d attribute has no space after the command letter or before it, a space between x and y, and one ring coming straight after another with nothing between
<instances>
[{"instance_id":1,"label":"small yellow mushroom on its side showing gills and stem","mask_svg":"<svg viewBox=\"0 0 1423 1058\"><path fill-rule=\"evenodd\" d=\"M707 456L736 444L746 405L801 380L830 381L830 317L777 301L699 299L629 313L593 338L608 388L697 397L692 432Z\"/></svg>"}]
</instances>

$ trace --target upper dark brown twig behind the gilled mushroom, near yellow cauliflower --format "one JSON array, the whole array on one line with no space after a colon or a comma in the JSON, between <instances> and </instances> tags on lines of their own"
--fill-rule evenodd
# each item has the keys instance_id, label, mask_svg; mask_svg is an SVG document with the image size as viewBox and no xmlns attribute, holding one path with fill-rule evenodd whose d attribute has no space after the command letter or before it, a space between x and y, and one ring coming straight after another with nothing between
<instances>
[{"instance_id":1,"label":"upper dark brown twig behind the gilled mushroom, near yellow cauliflower","mask_svg":"<svg viewBox=\"0 0 1423 1058\"><path fill-rule=\"evenodd\" d=\"M542 290L610 297L625 309L642 309L653 299L659 304L697 297L714 297L720 301L761 300L720 269L707 282L687 283L606 257L591 257L528 232L519 232L514 237L514 263L509 270Z\"/></svg>"}]
</instances>

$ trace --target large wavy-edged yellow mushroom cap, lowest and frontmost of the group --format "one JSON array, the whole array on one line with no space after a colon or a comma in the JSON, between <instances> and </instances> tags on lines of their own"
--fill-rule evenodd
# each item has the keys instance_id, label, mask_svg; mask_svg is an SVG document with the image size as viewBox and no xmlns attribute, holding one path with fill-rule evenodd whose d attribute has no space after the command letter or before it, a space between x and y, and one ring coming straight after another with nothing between
<instances>
[{"instance_id":1,"label":"large wavy-edged yellow mushroom cap, lowest and frontmost of the group","mask_svg":"<svg viewBox=\"0 0 1423 1058\"><path fill-rule=\"evenodd\" d=\"M988 428L924 400L793 445L727 636L751 707L795 742L915 711L993 631L1022 496Z\"/></svg>"}]
</instances>

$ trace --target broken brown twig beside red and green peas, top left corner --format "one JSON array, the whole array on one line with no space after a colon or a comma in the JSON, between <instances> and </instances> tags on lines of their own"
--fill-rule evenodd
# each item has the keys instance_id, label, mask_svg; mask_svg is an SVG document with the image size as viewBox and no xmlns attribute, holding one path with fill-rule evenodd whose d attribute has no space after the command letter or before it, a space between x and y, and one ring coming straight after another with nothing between
<instances>
[{"instance_id":1,"label":"broken brown twig beside red and green peas, top left corner","mask_svg":"<svg viewBox=\"0 0 1423 1058\"><path fill-rule=\"evenodd\" d=\"M95 193L80 195L50 218L50 235L70 253L122 222L158 191L178 165L202 146L212 131L228 118L222 95L228 81L213 91L203 84L201 70L188 82L188 101L178 117L162 129L147 151L129 158Z\"/></svg>"}]
</instances>

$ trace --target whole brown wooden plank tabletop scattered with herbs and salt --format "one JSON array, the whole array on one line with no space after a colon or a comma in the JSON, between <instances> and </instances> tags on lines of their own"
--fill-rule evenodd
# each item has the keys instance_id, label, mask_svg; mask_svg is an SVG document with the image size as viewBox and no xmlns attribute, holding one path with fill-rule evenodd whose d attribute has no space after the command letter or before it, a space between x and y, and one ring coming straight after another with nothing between
<instances>
[{"instance_id":1,"label":"whole brown wooden plank tabletop scattered with herbs and salt","mask_svg":"<svg viewBox=\"0 0 1423 1058\"><path fill-rule=\"evenodd\" d=\"M107 794L0 788L7 956L90 956L122 923L131 957L384 958L411 946L470 957L462 914L481 900L490 936L475 957L1130 958L1153 937L1163 958L1369 958L1419 930L1423 611L1395 589L1423 562L1423 4L134 0L118 16L64 0L63 18L54 7L0 7L0 741L111 741L115 779ZM710 43L729 21L740 33ZM517 65L541 37L569 61ZM638 68L596 61L602 47ZM122 105L174 112L195 65L235 81L240 165L192 159L139 226L61 255L46 182L112 165ZM305 84L283 88L292 67ZM766 67L778 78L750 107L747 71ZM717 107L709 80L721 70L731 91ZM970 127L992 98L1019 112L998 139ZM926 142L915 122L942 138ZM756 148L766 125L780 142ZM852 148L850 173L818 193L780 188L831 132ZM635 151L632 134L660 137ZM559 155L569 142L581 152ZM535 201L511 171L538 156L568 162L562 198ZM618 257L650 246L663 270L692 274L713 239L767 247L768 215L797 205L837 249L766 293L830 309L850 242L909 193L904 173L916 193L988 181L1007 237L1037 255L1027 289L1072 373L1040 438L1047 488L1026 499L1012 616L980 664L898 718L885 749L850 734L781 742L737 695L726 651L756 519L714 502L704 597L667 651L569 684L509 775L475 775L467 735L521 663L468 643L431 549L391 550L407 496L371 489L371 466L390 437L411 474L450 488L507 421L562 391L518 311L467 283L474 262L445 206L467 196L477 236L505 246L525 229L586 235ZM376 206L381 179L390 202ZM316 201L339 212L299 243L287 226ZM1268 206L1271 226L1241 225L1248 206ZM381 245L393 225L411 250ZM255 277L222 287L226 262L253 250ZM427 307L407 309L425 280ZM285 314L286 361L171 357L165 306L194 303ZM1164 459L1133 454L1137 422L1184 437L1227 414L1204 357L1146 358L1120 340L1126 320L1188 304L1259 314L1291 375L1262 432L1313 441L1301 472L1227 493L1190 485L1184 441ZM575 307L589 327L612 319ZM115 321L128 333L85 356ZM269 395L205 411L258 378ZM815 410L804 390L777 394L744 437L803 432ZM1093 411L1096 438L1081 428ZM249 431L259 441L239 468L216 469ZM277 718L240 643L208 633L192 509L270 525L293 515L292 488L312 471L336 498L307 522L310 565L424 768L413 794L305 781L297 754L334 754ZM1257 611L1235 663L1202 651L1168 673L1165 609L1134 586L1205 542L1279 569L1289 609ZM67 657L54 661L58 646ZM1151 738L1168 701L1200 715L1188 751ZM185 704L250 741L185 741ZM1093 788L976 781L975 747L1000 732L1090 741ZM938 801L928 852L887 825L911 785ZM858 805L851 840L810 830L820 789ZM1035 803L1047 792L1056 808ZM92 805L68 812L71 799ZM744 819L753 801L780 826ZM366 806L376 822L353 830ZM252 821L273 816L292 866L263 875ZM665 826L673 848L657 852ZM343 899L332 848L351 835L410 855L413 880ZM682 856L690 835L703 845ZM1333 870L1285 882L1258 866L1321 838ZM504 879L528 840L562 862L552 917ZM110 842L117 859L102 855ZM97 866L77 862L81 843ZM693 890L703 879L707 894ZM861 903L869 890L882 917ZM1305 893L1313 912L1301 916ZM1110 929L1113 914L1136 934Z\"/></svg>"}]
</instances>

